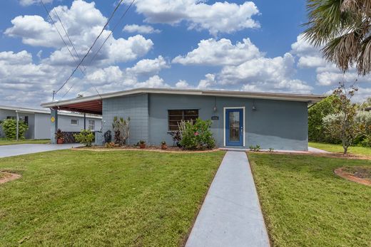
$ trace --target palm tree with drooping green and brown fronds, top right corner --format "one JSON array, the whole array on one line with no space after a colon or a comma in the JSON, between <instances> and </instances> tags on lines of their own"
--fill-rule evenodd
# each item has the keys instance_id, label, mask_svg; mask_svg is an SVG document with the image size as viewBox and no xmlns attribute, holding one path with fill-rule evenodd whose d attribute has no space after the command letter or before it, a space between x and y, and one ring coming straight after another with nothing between
<instances>
[{"instance_id":1,"label":"palm tree with drooping green and brown fronds, top right corner","mask_svg":"<svg viewBox=\"0 0 371 247\"><path fill-rule=\"evenodd\" d=\"M343 72L371 70L371 0L308 0L306 40Z\"/></svg>"}]
</instances>

